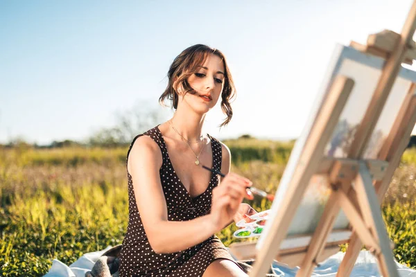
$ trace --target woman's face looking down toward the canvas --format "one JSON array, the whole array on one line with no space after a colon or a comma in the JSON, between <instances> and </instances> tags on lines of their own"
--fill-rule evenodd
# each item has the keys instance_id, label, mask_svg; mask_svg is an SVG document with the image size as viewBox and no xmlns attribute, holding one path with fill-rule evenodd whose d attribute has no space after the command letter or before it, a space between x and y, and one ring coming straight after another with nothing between
<instances>
[{"instance_id":1,"label":"woman's face looking down toward the canvas","mask_svg":"<svg viewBox=\"0 0 416 277\"><path fill-rule=\"evenodd\" d=\"M216 105L224 87L224 64L220 57L207 55L204 64L188 78L189 85L197 92L187 93L183 101L198 113L206 113Z\"/></svg>"}]
</instances>

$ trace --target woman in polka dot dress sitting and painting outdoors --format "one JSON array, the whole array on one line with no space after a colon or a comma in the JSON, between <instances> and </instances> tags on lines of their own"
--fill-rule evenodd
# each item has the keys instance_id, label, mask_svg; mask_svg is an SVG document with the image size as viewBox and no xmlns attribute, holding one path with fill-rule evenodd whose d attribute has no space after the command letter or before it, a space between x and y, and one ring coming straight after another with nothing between
<instances>
[{"instance_id":1,"label":"woman in polka dot dress sitting and painting outdoors","mask_svg":"<svg viewBox=\"0 0 416 277\"><path fill-rule=\"evenodd\" d=\"M252 199L246 190L252 182L229 172L227 146L202 134L218 98L227 116L221 126L229 123L234 93L225 57L216 49L197 44L171 64L159 101L171 100L175 114L136 136L127 154L129 222L120 276L247 276L214 234L255 213L241 204Z\"/></svg>"}]
</instances>

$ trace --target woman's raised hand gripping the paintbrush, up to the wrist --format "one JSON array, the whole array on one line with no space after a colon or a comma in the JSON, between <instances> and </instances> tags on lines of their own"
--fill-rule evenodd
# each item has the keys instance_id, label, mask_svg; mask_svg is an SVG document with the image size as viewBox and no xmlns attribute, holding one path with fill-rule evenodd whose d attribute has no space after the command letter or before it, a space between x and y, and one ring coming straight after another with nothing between
<instances>
[{"instance_id":1,"label":"woman's raised hand gripping the paintbrush, up to the wrist","mask_svg":"<svg viewBox=\"0 0 416 277\"><path fill-rule=\"evenodd\" d=\"M244 197L252 199L250 190L252 181L230 172L225 175L220 185L212 190L211 220L216 232L221 231L239 211Z\"/></svg>"}]
</instances>

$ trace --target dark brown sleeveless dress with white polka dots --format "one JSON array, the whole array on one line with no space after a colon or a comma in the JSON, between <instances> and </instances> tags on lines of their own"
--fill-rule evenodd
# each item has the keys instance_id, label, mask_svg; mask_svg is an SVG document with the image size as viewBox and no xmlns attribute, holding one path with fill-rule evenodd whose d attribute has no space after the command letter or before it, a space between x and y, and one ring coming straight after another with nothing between
<instances>
[{"instance_id":1,"label":"dark brown sleeveless dress with white polka dots","mask_svg":"<svg viewBox=\"0 0 416 277\"><path fill-rule=\"evenodd\" d=\"M175 174L171 160L166 150L166 144L159 125L149 129L143 134L137 135L127 152L128 154L135 140L142 135L150 136L159 145L162 151L163 163L160 168L160 180L166 199L168 220L184 221L193 220L196 217L207 215L211 209L212 189L218 186L218 177L211 174L209 186L204 193L197 197L191 197L187 189ZM209 135L208 135L209 136ZM209 136L213 154L212 168L221 168L221 145L219 141ZM126 161L127 167L127 161ZM180 276L196 277L202 276L208 265L218 258L233 260L225 249L224 244L216 235L212 235L204 242L175 253L160 253L153 251L148 242L146 232L141 223L140 214L137 209L135 192L132 185L132 177L128 175L128 198L129 198L129 220L127 233L123 239L120 253L120 276ZM168 230L167 230L168 231ZM236 264L238 265L238 264Z\"/></svg>"}]
</instances>

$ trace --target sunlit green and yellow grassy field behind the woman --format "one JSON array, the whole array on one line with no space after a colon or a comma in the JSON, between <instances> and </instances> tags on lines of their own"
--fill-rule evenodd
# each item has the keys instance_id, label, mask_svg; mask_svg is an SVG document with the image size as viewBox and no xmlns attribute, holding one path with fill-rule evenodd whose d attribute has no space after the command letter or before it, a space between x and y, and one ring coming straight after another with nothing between
<instances>
[{"instance_id":1,"label":"sunlit green and yellow grassy field behind the woman","mask_svg":"<svg viewBox=\"0 0 416 277\"><path fill-rule=\"evenodd\" d=\"M274 193L293 143L225 141L232 171ZM0 148L0 276L42 276L56 258L120 244L128 223L127 148ZM416 150L407 150L383 201L395 258L416 268ZM249 202L258 211L270 202ZM232 224L221 233L234 242ZM342 246L341 249L345 249Z\"/></svg>"}]
</instances>

